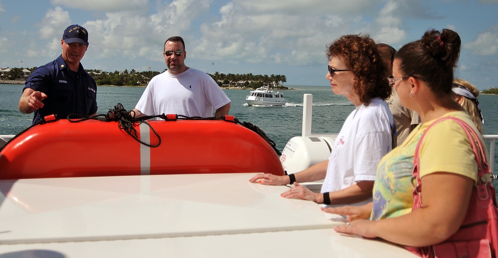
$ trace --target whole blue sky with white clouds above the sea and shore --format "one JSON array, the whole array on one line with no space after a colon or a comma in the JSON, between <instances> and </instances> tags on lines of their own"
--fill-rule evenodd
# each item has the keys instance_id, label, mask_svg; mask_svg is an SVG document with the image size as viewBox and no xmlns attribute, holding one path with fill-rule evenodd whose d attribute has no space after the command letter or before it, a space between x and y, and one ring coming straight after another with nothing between
<instances>
[{"instance_id":1,"label":"whole blue sky with white clouds above the sea and shore","mask_svg":"<svg viewBox=\"0 0 498 258\"><path fill-rule=\"evenodd\" d=\"M164 41L185 40L185 64L209 74L285 75L330 86L327 45L368 34L399 49L429 29L462 39L455 76L498 87L498 0L0 0L0 67L61 54L64 29L89 32L85 69L162 72Z\"/></svg>"}]
</instances>

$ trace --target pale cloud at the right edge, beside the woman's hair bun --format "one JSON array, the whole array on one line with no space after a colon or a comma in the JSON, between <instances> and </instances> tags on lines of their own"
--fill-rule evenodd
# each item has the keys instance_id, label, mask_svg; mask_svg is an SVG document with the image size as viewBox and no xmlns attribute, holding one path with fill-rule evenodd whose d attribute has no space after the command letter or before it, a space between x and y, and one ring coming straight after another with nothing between
<instances>
[{"instance_id":1,"label":"pale cloud at the right edge, beside the woman's hair bun","mask_svg":"<svg viewBox=\"0 0 498 258\"><path fill-rule=\"evenodd\" d=\"M465 44L464 48L479 56L498 54L498 23L479 34L476 40Z\"/></svg>"}]
</instances>

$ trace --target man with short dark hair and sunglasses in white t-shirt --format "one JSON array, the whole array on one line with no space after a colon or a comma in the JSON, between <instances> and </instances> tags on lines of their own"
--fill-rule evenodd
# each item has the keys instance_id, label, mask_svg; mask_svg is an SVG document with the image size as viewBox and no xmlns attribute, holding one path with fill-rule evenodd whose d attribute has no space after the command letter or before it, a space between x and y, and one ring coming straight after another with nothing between
<instances>
[{"instance_id":1,"label":"man with short dark hair and sunglasses in white t-shirt","mask_svg":"<svg viewBox=\"0 0 498 258\"><path fill-rule=\"evenodd\" d=\"M164 42L168 70L154 76L133 111L135 117L178 114L188 117L227 115L231 100L206 73L185 65L185 42L179 36Z\"/></svg>"}]
</instances>

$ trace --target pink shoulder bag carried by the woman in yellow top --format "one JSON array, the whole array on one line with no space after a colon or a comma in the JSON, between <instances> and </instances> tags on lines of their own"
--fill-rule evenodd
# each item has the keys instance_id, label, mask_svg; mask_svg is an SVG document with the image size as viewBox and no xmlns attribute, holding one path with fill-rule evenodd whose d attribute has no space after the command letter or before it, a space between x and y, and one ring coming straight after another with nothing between
<instances>
[{"instance_id":1,"label":"pink shoulder bag carried by the woman in yellow top","mask_svg":"<svg viewBox=\"0 0 498 258\"><path fill-rule=\"evenodd\" d=\"M481 139L476 131L461 119L455 117L438 119L420 137L413 159L413 180L417 180L417 185L413 190L412 210L423 207L422 181L418 171L422 140L432 126L448 119L457 122L466 132L478 165L478 181L472 190L467 215L457 233L448 240L429 247L405 248L423 258L498 258L498 208L495 187L492 184L495 176L490 172Z\"/></svg>"}]
</instances>

